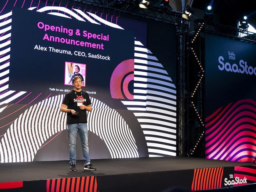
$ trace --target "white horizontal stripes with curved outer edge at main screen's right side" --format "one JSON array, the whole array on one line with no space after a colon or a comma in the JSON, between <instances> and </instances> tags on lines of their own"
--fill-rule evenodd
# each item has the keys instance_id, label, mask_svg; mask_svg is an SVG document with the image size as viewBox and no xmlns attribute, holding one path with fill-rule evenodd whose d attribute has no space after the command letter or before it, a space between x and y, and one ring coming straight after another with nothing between
<instances>
[{"instance_id":1,"label":"white horizontal stripes with curved outer edge at main screen's right side","mask_svg":"<svg viewBox=\"0 0 256 192\"><path fill-rule=\"evenodd\" d=\"M148 53L151 53L151 52L148 50ZM176 136L173 134L173 133L176 134L176 123L166 122L166 119L172 120L172 122L176 122L176 118L173 118L173 117L170 118L170 116L176 117L176 87L172 83L172 79L166 76L167 72L164 70L162 64L144 59L144 58L148 58L148 59L157 61L156 57L154 56L146 57L145 54L135 54L135 55L138 57L139 56L143 57L143 59L142 58L134 59L134 62L136 63L136 67L134 67L134 87L136 87L136 89L134 88L134 95L136 95L136 93L139 93L139 92L145 92L145 88L146 88L147 112L142 112L142 113L135 112L134 115L135 116L138 115L137 119L141 125L143 133L145 135L151 135L151 137L145 136L147 146L148 146L149 156L156 156L156 153L157 153L157 156L165 156L165 155L176 156L175 152L170 152L167 150L170 147L170 143L176 146ZM147 66L145 66L145 64ZM159 75L161 73L163 75ZM135 78L137 76L140 76L140 77L138 77L138 80L136 79L135 81ZM141 76L145 76L144 79L147 80L148 84L146 87L145 87L145 84L140 83L139 78L141 78ZM159 80L159 79L163 79L163 80ZM154 83L154 84L150 84L150 83ZM150 90L148 88L150 88ZM154 96L151 96L151 95L149 96L148 94L154 94ZM172 100L170 101L162 97L171 98ZM127 106L127 109L136 110L135 106L131 106L132 103L125 102L124 104ZM161 107L161 109L159 109L159 107ZM164 108L166 108L166 110L164 110ZM150 114L150 111L154 113L154 119L143 118L143 117L152 116L152 114ZM156 113L158 114L158 116L156 115ZM158 120L156 120L155 118ZM152 129L152 131L148 131L148 129ZM166 133L165 132L163 133L162 132L163 130ZM158 138L158 136L169 138L169 139ZM152 141L166 143L166 144L161 144L161 147L160 146L157 147L157 145L152 146ZM154 148L151 148L151 147L154 147ZM175 151L176 151L176 147L172 147L172 148L175 148Z\"/></svg>"}]
</instances>

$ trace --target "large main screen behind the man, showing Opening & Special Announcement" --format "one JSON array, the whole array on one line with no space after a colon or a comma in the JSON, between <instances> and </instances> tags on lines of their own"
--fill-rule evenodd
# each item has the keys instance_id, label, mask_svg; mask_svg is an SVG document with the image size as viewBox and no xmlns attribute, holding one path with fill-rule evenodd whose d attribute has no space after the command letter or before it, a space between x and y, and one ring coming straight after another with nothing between
<instances>
[{"instance_id":1,"label":"large main screen behind the man, showing Opening & Special Announcement","mask_svg":"<svg viewBox=\"0 0 256 192\"><path fill-rule=\"evenodd\" d=\"M42 0L0 7L1 163L69 159L60 106L76 72L91 159L176 155L174 25Z\"/></svg>"}]
</instances>

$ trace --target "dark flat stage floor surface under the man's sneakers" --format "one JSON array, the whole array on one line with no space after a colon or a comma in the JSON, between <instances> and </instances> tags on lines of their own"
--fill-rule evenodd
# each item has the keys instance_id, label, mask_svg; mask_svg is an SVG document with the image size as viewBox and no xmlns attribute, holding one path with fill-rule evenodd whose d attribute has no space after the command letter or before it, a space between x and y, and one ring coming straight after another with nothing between
<instances>
[{"instance_id":1,"label":"dark flat stage floor surface under the man's sneakers","mask_svg":"<svg viewBox=\"0 0 256 192\"><path fill-rule=\"evenodd\" d=\"M69 171L68 161L2 163L0 164L0 183L253 165L253 163L239 163L181 156L97 159L92 160L91 163L97 170L84 170L84 163L82 160L77 161L76 172Z\"/></svg>"}]
</instances>

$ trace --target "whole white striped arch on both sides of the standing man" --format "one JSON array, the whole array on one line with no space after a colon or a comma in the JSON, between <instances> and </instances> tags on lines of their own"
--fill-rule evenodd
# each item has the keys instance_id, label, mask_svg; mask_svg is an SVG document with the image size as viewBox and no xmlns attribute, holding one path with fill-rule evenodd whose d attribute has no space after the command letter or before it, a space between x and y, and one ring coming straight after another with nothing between
<instances>
[{"instance_id":1,"label":"whole white striped arch on both sides of the standing man","mask_svg":"<svg viewBox=\"0 0 256 192\"><path fill-rule=\"evenodd\" d=\"M63 97L54 96L31 106L11 124L1 140L1 163L33 161L47 139L66 129L66 113L60 112ZM116 110L93 109L88 112L88 122L93 122L88 124L89 130L106 142L113 158L139 157L132 132Z\"/></svg>"}]
</instances>

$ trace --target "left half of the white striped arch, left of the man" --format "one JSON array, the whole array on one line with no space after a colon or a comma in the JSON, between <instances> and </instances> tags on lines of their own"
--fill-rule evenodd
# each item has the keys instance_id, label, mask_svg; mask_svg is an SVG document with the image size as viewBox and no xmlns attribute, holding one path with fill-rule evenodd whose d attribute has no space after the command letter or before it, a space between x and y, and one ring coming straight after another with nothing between
<instances>
[{"instance_id":1,"label":"left half of the white striped arch, left of the man","mask_svg":"<svg viewBox=\"0 0 256 192\"><path fill-rule=\"evenodd\" d=\"M60 107L57 107L62 99L61 96L55 96L39 102L11 124L1 140L0 151L4 153L1 154L1 163L33 161L42 144L53 134L66 128L65 113L60 112ZM41 122L45 122L45 126L40 126Z\"/></svg>"}]
</instances>

